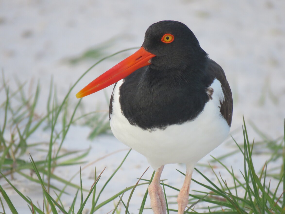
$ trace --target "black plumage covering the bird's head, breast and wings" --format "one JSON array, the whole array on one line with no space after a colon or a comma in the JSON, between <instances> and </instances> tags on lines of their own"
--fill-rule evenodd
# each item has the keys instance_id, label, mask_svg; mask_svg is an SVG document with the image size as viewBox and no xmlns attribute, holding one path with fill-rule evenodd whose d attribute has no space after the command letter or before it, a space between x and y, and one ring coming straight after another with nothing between
<instances>
[{"instance_id":1,"label":"black plumage covering the bird's head, breast and wings","mask_svg":"<svg viewBox=\"0 0 285 214\"><path fill-rule=\"evenodd\" d=\"M166 32L175 37L170 44L160 41ZM155 23L147 29L142 47L156 56L150 65L125 77L119 88L122 114L130 124L156 130L194 120L211 98L207 89L217 78L225 96L221 114L231 125L232 94L225 73L208 58L186 25L177 21ZM109 114L112 102L113 97Z\"/></svg>"}]
</instances>

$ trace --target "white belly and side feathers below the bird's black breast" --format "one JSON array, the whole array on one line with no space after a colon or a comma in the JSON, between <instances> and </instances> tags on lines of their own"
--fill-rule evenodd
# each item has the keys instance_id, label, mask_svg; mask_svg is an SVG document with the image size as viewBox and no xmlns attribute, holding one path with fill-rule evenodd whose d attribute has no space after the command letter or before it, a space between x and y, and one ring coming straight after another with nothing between
<instances>
[{"instance_id":1,"label":"white belly and side feathers below the bird's black breast","mask_svg":"<svg viewBox=\"0 0 285 214\"><path fill-rule=\"evenodd\" d=\"M122 83L123 80L120 80L113 92L111 130L119 141L145 156L154 170L168 163L186 163L194 167L229 133L230 127L220 114L220 100L223 101L224 96L217 79L210 86L214 90L213 99L206 103L203 112L195 120L155 131L133 126L123 116L119 104L119 87Z\"/></svg>"}]
</instances>

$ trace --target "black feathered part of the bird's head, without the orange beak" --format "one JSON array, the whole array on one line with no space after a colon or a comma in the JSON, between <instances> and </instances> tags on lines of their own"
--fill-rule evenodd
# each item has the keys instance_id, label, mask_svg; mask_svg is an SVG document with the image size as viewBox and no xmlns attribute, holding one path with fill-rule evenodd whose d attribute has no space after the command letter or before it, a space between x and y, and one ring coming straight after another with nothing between
<instances>
[{"instance_id":1,"label":"black feathered part of the bird's head, without the orange beak","mask_svg":"<svg viewBox=\"0 0 285 214\"><path fill-rule=\"evenodd\" d=\"M172 35L173 41L163 42L165 34ZM200 47L194 33L178 21L160 21L150 25L142 47L156 55L149 65L155 70L184 70L203 65L207 58L207 53Z\"/></svg>"}]
</instances>

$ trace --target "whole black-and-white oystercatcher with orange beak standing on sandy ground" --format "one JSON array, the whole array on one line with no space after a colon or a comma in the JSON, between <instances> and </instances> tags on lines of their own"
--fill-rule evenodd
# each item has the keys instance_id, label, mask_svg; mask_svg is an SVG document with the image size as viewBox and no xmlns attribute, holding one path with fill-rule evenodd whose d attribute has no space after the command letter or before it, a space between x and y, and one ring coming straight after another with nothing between
<instances>
[{"instance_id":1,"label":"whole black-and-white oystercatcher with orange beak standing on sandy ground","mask_svg":"<svg viewBox=\"0 0 285 214\"><path fill-rule=\"evenodd\" d=\"M227 137L233 99L225 72L178 21L148 27L141 48L90 82L77 98L111 84L109 119L114 136L146 157L155 170L148 186L154 214L166 213L160 177L164 165L186 164L178 214L189 202L196 163Z\"/></svg>"}]
</instances>

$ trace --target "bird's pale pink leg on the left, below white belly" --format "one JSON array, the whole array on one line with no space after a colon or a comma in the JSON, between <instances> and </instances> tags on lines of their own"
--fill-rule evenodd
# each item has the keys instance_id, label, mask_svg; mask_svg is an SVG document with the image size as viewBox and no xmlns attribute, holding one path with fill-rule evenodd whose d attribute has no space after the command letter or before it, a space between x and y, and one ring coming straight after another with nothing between
<instances>
[{"instance_id":1,"label":"bird's pale pink leg on the left, below white belly","mask_svg":"<svg viewBox=\"0 0 285 214\"><path fill-rule=\"evenodd\" d=\"M154 214L166 213L166 202L162 187L160 186L160 175L163 170L163 166L156 170L152 182L148 186L148 194L150 197L150 206Z\"/></svg>"}]
</instances>

